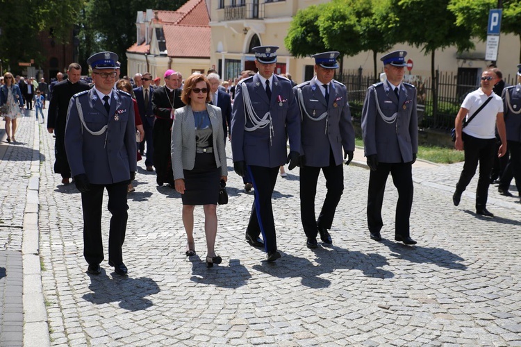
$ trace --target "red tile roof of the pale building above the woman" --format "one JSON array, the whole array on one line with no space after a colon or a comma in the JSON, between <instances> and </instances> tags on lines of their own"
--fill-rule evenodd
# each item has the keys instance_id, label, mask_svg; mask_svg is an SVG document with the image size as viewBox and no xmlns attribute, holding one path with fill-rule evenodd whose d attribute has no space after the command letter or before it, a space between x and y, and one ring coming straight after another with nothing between
<instances>
[{"instance_id":1,"label":"red tile roof of the pale building above the woman","mask_svg":"<svg viewBox=\"0 0 521 347\"><path fill-rule=\"evenodd\" d=\"M205 0L188 0L176 11L156 13L158 19L152 22L163 24L168 56L210 58L210 15ZM149 49L149 44L133 44L127 51L147 53Z\"/></svg>"}]
</instances>

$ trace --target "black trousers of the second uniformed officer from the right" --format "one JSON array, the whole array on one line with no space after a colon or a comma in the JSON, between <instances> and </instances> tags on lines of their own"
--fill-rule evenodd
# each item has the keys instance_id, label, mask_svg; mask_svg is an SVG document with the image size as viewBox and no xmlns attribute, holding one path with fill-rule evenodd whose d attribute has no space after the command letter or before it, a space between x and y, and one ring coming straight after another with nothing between
<instances>
[{"instance_id":1,"label":"black trousers of the second uniformed officer from the right","mask_svg":"<svg viewBox=\"0 0 521 347\"><path fill-rule=\"evenodd\" d=\"M335 217L336 206L344 191L344 170L342 164L329 167L300 168L300 218L306 237L317 237L318 227L331 229ZM315 219L315 196L317 195L317 180L320 170L326 178L326 198L322 210Z\"/></svg>"}]
</instances>

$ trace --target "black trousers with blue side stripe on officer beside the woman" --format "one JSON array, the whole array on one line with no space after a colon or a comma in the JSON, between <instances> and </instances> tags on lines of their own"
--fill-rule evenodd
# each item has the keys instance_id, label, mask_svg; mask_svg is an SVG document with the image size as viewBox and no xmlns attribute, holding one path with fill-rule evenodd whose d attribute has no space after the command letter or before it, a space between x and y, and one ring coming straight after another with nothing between
<instances>
[{"instance_id":1,"label":"black trousers with blue side stripe on officer beside the woman","mask_svg":"<svg viewBox=\"0 0 521 347\"><path fill-rule=\"evenodd\" d=\"M272 194L275 189L279 167L258 167L248 165L247 170L253 181L255 198L251 207L246 232L251 237L263 235L266 252L276 250L275 222L273 219Z\"/></svg>"}]
</instances>

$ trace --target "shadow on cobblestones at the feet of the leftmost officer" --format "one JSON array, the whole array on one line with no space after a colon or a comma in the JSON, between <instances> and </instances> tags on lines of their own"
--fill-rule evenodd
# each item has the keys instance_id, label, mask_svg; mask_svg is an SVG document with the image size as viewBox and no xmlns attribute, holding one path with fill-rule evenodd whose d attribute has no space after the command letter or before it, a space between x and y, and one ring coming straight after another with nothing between
<instances>
[{"instance_id":1,"label":"shadow on cobblestones at the feet of the leftmost officer","mask_svg":"<svg viewBox=\"0 0 521 347\"><path fill-rule=\"evenodd\" d=\"M132 312L146 310L154 305L145 298L159 293L159 286L151 278L131 278L113 273L112 278L105 269L98 276L89 275L89 289L93 293L83 295L83 299L96 305L119 302L119 307Z\"/></svg>"}]
</instances>

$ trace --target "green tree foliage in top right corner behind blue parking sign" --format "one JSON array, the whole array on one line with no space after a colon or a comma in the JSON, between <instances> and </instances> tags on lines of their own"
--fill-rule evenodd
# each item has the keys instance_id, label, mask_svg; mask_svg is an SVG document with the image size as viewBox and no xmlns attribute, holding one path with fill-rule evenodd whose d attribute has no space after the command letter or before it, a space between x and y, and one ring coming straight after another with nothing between
<instances>
[{"instance_id":1,"label":"green tree foliage in top right corner behind blue parking sign","mask_svg":"<svg viewBox=\"0 0 521 347\"><path fill-rule=\"evenodd\" d=\"M451 0L449 10L456 16L456 25L468 28L473 36L487 38L488 12L497 8L497 0ZM521 42L521 1L502 0L502 33L517 35ZM519 52L521 61L521 49Z\"/></svg>"}]
</instances>

